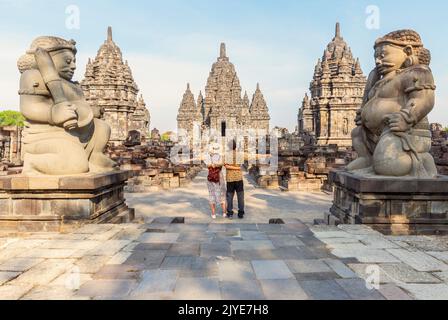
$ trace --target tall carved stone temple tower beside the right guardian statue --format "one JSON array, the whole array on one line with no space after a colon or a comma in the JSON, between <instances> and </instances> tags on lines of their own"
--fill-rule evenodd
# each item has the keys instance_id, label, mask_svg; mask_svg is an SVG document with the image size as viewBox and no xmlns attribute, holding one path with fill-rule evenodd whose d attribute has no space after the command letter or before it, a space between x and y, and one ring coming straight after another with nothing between
<instances>
[{"instance_id":1,"label":"tall carved stone temple tower beside the right guardian statue","mask_svg":"<svg viewBox=\"0 0 448 320\"><path fill-rule=\"evenodd\" d=\"M311 133L317 145L351 147L351 132L365 85L359 59L353 57L337 23L335 37L315 67L311 96L306 94L300 107L299 133Z\"/></svg>"}]
</instances>

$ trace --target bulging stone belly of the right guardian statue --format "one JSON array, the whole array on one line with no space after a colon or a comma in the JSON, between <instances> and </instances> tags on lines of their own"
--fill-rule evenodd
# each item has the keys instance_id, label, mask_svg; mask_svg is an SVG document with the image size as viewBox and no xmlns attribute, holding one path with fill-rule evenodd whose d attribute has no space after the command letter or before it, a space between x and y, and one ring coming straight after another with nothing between
<instances>
[{"instance_id":1,"label":"bulging stone belly of the right guardian statue","mask_svg":"<svg viewBox=\"0 0 448 320\"><path fill-rule=\"evenodd\" d=\"M400 112L401 105L396 99L376 98L369 101L362 110L363 124L372 132L381 134L384 128L384 117Z\"/></svg>"}]
</instances>

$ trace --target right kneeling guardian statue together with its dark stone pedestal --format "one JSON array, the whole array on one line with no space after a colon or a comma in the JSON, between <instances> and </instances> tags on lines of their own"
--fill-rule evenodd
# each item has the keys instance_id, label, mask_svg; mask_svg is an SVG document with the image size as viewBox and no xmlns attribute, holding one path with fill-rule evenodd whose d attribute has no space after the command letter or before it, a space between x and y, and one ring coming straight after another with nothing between
<instances>
[{"instance_id":1,"label":"right kneeling guardian statue together with its dark stone pedestal","mask_svg":"<svg viewBox=\"0 0 448 320\"><path fill-rule=\"evenodd\" d=\"M375 59L352 132L358 158L331 172L334 202L324 222L447 234L448 177L438 175L430 154L431 54L417 32L399 30L376 41Z\"/></svg>"}]
</instances>

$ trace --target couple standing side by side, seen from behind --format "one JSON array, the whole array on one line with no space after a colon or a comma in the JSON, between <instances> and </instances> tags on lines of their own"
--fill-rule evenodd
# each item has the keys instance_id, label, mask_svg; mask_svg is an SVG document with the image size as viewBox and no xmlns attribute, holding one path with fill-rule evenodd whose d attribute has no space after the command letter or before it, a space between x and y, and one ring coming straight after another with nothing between
<instances>
[{"instance_id":1,"label":"couple standing side by side, seen from behind","mask_svg":"<svg viewBox=\"0 0 448 320\"><path fill-rule=\"evenodd\" d=\"M223 217L233 218L233 200L235 193L238 198L238 218L244 218L244 182L241 165L236 162L236 142L231 143L233 157L230 163L225 163L221 155L221 146L212 144L205 159L208 167L207 187L209 192L212 218L216 219L216 208L222 206ZM227 159L228 160L228 159ZM224 180L224 168L226 179Z\"/></svg>"}]
</instances>

